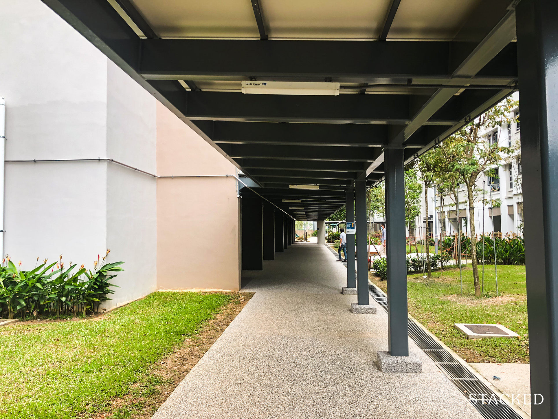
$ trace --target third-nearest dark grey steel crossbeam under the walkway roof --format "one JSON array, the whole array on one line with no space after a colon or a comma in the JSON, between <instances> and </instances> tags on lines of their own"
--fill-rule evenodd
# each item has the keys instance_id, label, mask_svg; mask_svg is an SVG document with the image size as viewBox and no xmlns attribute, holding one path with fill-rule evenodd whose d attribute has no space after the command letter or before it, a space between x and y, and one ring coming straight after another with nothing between
<instances>
[{"instance_id":1,"label":"third-nearest dark grey steel crossbeam under the walkway roof","mask_svg":"<svg viewBox=\"0 0 558 419\"><path fill-rule=\"evenodd\" d=\"M213 141L234 144L368 145L387 144L386 125L195 121Z\"/></svg>"}]
</instances>

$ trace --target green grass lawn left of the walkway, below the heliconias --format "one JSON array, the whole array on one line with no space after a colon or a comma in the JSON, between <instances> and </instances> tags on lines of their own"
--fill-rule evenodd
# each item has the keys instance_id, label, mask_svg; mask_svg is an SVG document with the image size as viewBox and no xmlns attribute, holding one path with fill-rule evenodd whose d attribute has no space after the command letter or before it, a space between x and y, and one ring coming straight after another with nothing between
<instances>
[{"instance_id":1,"label":"green grass lawn left of the walkway, below the heliconias","mask_svg":"<svg viewBox=\"0 0 558 419\"><path fill-rule=\"evenodd\" d=\"M156 292L94 320L4 326L0 418L62 419L102 410L231 298Z\"/></svg>"}]
</instances>

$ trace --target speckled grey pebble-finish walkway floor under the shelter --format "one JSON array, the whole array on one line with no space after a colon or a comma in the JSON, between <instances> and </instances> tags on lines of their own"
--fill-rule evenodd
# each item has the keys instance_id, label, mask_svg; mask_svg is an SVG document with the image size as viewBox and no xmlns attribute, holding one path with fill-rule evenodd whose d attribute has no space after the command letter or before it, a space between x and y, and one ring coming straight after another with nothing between
<instances>
[{"instance_id":1,"label":"speckled grey pebble-finish walkway floor under the shelter","mask_svg":"<svg viewBox=\"0 0 558 419\"><path fill-rule=\"evenodd\" d=\"M296 243L248 276L256 294L155 419L482 417L413 341L424 373L379 372L387 314L349 311L326 246Z\"/></svg>"}]
</instances>

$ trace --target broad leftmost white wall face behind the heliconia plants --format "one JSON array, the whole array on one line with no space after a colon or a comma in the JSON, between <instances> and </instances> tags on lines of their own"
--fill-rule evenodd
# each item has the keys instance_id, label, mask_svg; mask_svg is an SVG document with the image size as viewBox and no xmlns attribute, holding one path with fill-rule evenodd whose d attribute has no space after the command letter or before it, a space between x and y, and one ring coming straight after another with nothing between
<instances>
[{"instance_id":1,"label":"broad leftmost white wall face behind the heliconia plants","mask_svg":"<svg viewBox=\"0 0 558 419\"><path fill-rule=\"evenodd\" d=\"M6 159L104 157L107 59L37 0L0 0ZM106 163L7 163L4 251L88 263L106 242Z\"/></svg>"}]
</instances>

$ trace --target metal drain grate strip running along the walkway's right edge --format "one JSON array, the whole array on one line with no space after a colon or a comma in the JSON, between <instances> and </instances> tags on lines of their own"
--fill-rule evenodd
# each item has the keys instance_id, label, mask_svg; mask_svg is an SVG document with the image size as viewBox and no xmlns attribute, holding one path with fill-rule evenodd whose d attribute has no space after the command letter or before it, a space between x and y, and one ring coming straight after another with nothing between
<instances>
[{"instance_id":1,"label":"metal drain grate strip running along the walkway's right edge","mask_svg":"<svg viewBox=\"0 0 558 419\"><path fill-rule=\"evenodd\" d=\"M380 289L376 285L368 284L368 292L387 312L387 298ZM485 395L484 398L487 402L484 404L480 402L473 404L483 417L486 419L521 419L521 416L507 404L494 403L494 401L489 404L488 400L491 397L498 399L498 396L455 359L453 355L446 351L438 341L422 330L414 319L408 319L408 327L411 339L434 361L438 368L448 374L451 382L455 384L455 387L459 388L466 398L469 398L470 394L476 394L477 397L475 398L480 397L480 394Z\"/></svg>"}]
</instances>

